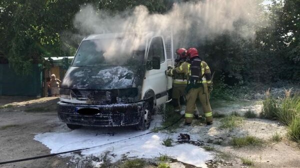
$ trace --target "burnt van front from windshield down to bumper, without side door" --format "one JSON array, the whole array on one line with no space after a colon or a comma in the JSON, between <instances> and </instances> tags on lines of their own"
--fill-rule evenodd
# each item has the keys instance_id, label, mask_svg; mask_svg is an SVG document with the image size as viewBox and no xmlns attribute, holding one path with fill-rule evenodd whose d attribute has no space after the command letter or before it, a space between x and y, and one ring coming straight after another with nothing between
<instances>
[{"instance_id":1,"label":"burnt van front from windshield down to bumper, without side door","mask_svg":"<svg viewBox=\"0 0 300 168\"><path fill-rule=\"evenodd\" d=\"M114 53L109 47L122 39L100 37L81 42L62 80L58 117L70 129L82 125L142 129L149 106L141 96L145 49Z\"/></svg>"}]
</instances>

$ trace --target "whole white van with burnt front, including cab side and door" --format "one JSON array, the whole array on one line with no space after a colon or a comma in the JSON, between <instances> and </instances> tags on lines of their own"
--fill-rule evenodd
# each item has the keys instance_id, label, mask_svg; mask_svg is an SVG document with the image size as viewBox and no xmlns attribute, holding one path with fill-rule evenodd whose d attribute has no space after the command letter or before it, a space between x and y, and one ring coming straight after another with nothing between
<instances>
[{"instance_id":1,"label":"whole white van with burnt front, including cab side and door","mask_svg":"<svg viewBox=\"0 0 300 168\"><path fill-rule=\"evenodd\" d=\"M171 36L154 32L85 37L60 87L58 117L70 129L135 126L146 130L155 106L169 101Z\"/></svg>"}]
</instances>

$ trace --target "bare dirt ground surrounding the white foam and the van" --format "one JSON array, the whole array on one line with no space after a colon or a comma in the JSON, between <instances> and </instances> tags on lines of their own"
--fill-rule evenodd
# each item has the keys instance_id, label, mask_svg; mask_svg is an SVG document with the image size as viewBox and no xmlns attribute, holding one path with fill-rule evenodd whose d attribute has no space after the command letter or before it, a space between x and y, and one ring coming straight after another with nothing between
<instances>
[{"instance_id":1,"label":"bare dirt ground surrounding the white foam and the van","mask_svg":"<svg viewBox=\"0 0 300 168\"><path fill-rule=\"evenodd\" d=\"M66 136L73 136L76 133L66 128L64 123L61 123L56 115L55 103L57 98L18 98L18 97L0 97L0 104L13 104L13 107L0 109L0 161L15 160L21 158L34 157L38 155L46 155L51 152L42 143L33 140L37 135L47 135L49 141L61 142L65 141ZM212 102L214 112L221 114L230 114L232 111L243 115L249 109L258 113L260 105L258 101L241 101L241 102ZM208 168L241 168L250 167L241 163L241 158L246 158L254 163L254 168L299 168L300 166L300 149L297 144L284 139L286 129L276 121L262 120L258 118L245 119L243 124L233 130L220 129L222 118L216 118L212 126L206 127L201 122L194 120L192 126L187 127L181 125L178 129L171 133L162 131L158 136L173 137L176 139L179 133L187 133L192 140L201 142L201 145L195 144L194 148L200 151L204 147L211 147L209 151L214 159L207 161ZM84 132L86 135L102 135L102 132L111 132L111 130L103 131L102 129L83 128L79 132ZM277 132L283 140L279 143L270 142L270 138ZM42 134L46 133L46 134ZM78 131L77 131L78 133ZM114 131L117 133L117 131ZM130 134L136 134L130 131ZM57 136L59 135L59 136ZM59 137L57 139L55 136ZM111 135L104 135L111 136ZM123 135L122 135L123 136ZM254 136L264 140L266 143L262 146L246 146L242 148L234 148L230 145L230 141L234 137ZM73 141L77 141L73 137ZM92 138L80 140L87 145L94 145ZM95 137L95 141L98 140ZM109 137L108 137L109 138ZM117 135L114 135L117 138ZM153 138L153 137L149 137ZM80 141L77 142L80 144ZM46 144L46 142L43 142ZM157 142L159 143L159 142ZM59 143L58 143L59 144ZM124 144L126 145L126 143ZM179 144L174 143L174 147L178 148ZM187 146L190 147L190 144ZM77 148L70 146L69 148ZM53 149L52 149L53 150ZM116 152L118 149L114 149ZM179 152L178 152L179 153ZM92 154L92 155L91 155ZM34 161L19 162L14 164L0 165L0 168L79 168L84 166L87 160L93 160L94 167L99 167L102 163L101 157L103 153L97 151L89 151L69 157L50 157L38 159ZM112 156L114 156L112 154ZM96 157L97 159L95 159ZM142 157L141 157L142 158ZM154 161L153 161L154 162ZM188 164L182 165L178 161L173 160L172 168L193 168ZM177 164L176 164L177 163ZM225 164L224 164L225 163ZM79 166L79 167L78 167ZM92 167L90 167L92 168ZM154 168L154 167L153 167Z\"/></svg>"}]
</instances>

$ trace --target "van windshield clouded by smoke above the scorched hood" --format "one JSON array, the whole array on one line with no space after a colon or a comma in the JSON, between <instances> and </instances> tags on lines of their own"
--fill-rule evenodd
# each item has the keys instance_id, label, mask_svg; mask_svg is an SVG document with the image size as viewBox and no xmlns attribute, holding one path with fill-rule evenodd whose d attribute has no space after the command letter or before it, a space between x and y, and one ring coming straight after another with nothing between
<instances>
[{"instance_id":1,"label":"van windshield clouded by smoke above the scorched hood","mask_svg":"<svg viewBox=\"0 0 300 168\"><path fill-rule=\"evenodd\" d=\"M71 66L136 66L144 53L144 47L132 48L122 38L84 40Z\"/></svg>"}]
</instances>

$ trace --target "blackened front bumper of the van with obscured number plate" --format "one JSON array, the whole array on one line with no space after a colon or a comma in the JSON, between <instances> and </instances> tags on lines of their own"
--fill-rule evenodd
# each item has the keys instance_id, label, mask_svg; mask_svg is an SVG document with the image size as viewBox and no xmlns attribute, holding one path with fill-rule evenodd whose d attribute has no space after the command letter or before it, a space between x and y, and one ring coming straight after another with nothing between
<instances>
[{"instance_id":1,"label":"blackened front bumper of the van with obscured number plate","mask_svg":"<svg viewBox=\"0 0 300 168\"><path fill-rule=\"evenodd\" d=\"M137 125L141 120L143 102L112 105L57 103L60 121L66 124L118 127ZM97 114L79 114L78 109L98 109Z\"/></svg>"}]
</instances>

